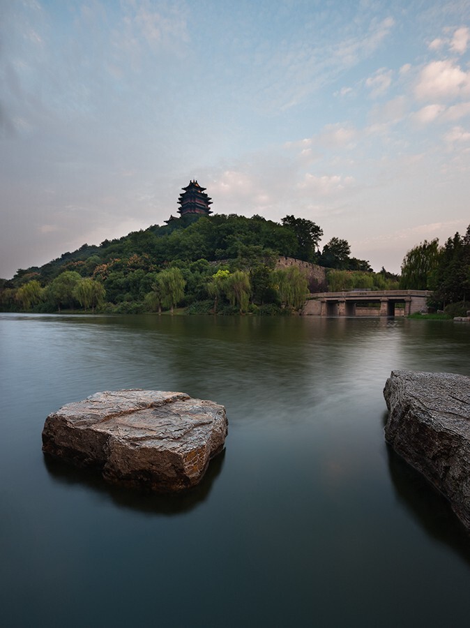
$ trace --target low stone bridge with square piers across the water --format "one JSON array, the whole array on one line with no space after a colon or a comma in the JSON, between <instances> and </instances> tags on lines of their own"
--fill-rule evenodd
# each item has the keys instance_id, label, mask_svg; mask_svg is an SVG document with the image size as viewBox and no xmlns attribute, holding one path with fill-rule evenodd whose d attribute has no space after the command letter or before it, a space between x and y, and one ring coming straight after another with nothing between
<instances>
[{"instance_id":1,"label":"low stone bridge with square piers across the water","mask_svg":"<svg viewBox=\"0 0 470 628\"><path fill-rule=\"evenodd\" d=\"M313 316L408 316L426 311L429 290L351 290L307 297L303 314ZM395 311L396 307L396 311Z\"/></svg>"}]
</instances>

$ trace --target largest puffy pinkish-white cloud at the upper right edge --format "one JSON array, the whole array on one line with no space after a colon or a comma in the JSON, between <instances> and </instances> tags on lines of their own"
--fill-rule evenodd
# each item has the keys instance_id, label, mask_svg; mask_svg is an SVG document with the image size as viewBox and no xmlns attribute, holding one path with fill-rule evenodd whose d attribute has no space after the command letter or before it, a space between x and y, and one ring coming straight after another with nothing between
<instances>
[{"instance_id":1,"label":"largest puffy pinkish-white cloud at the upper right edge","mask_svg":"<svg viewBox=\"0 0 470 628\"><path fill-rule=\"evenodd\" d=\"M470 94L470 72L464 72L450 59L432 61L421 70L414 93L419 100L455 98Z\"/></svg>"}]
</instances>

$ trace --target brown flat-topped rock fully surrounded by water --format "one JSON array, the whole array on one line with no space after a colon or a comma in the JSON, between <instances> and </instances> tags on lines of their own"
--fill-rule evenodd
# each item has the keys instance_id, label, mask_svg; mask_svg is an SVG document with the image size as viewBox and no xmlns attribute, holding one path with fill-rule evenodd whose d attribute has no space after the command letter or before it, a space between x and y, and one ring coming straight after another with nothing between
<instances>
[{"instance_id":1,"label":"brown flat-topped rock fully surrounded by water","mask_svg":"<svg viewBox=\"0 0 470 628\"><path fill-rule=\"evenodd\" d=\"M180 392L96 393L50 414L43 451L94 467L113 484L181 491L199 482L223 449L225 408Z\"/></svg>"}]
</instances>

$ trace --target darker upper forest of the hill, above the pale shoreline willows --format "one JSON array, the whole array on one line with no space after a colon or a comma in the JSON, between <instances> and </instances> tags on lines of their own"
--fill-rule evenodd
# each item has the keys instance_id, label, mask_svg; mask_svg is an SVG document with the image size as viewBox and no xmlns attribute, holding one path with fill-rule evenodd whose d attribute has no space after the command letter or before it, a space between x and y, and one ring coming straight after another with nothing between
<instances>
[{"instance_id":1,"label":"darker upper forest of the hill, above the pale shoreline willows","mask_svg":"<svg viewBox=\"0 0 470 628\"><path fill-rule=\"evenodd\" d=\"M24 283L25 276L31 275L45 285L63 269L91 276L100 264L116 260L123 263L131 260L137 267L151 270L175 260L214 262L234 259L243 253L284 255L326 267L371 270L365 260L349 257L346 240L333 238L321 254L319 241L322 235L321 227L311 220L294 216L286 216L282 224L261 216L245 218L222 214L199 220L180 218L169 225L153 225L119 239L105 240L100 246L84 244L77 251L63 253L42 267L20 269L13 278L13 285ZM142 259L137 260L135 256Z\"/></svg>"}]
</instances>

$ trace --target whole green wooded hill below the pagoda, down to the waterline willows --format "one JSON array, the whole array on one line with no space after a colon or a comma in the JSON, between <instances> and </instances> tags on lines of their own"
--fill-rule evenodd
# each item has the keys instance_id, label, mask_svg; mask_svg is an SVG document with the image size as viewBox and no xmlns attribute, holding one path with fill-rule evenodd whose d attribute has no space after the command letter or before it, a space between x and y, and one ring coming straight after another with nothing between
<instances>
[{"instance_id":1,"label":"whole green wooded hill below the pagoda, down to the waterline willows","mask_svg":"<svg viewBox=\"0 0 470 628\"><path fill-rule=\"evenodd\" d=\"M84 309L141 313L184 306L189 313L287 313L310 292L353 287L391 289L397 276L374 273L351 257L347 240L332 238L311 220L286 216L180 218L100 246L84 244L42 267L20 269L0 280L3 311L56 312ZM326 282L308 282L293 266L276 268L278 257L319 264Z\"/></svg>"}]
</instances>

